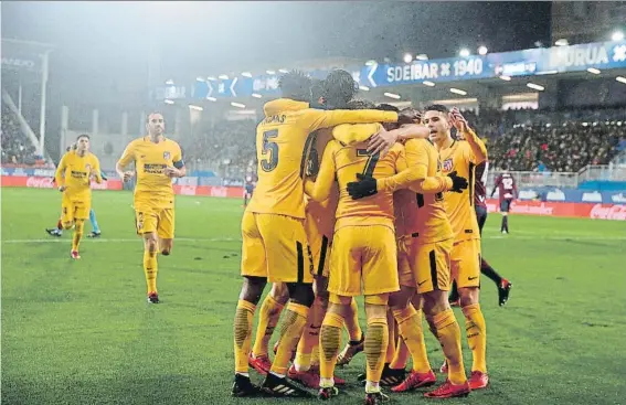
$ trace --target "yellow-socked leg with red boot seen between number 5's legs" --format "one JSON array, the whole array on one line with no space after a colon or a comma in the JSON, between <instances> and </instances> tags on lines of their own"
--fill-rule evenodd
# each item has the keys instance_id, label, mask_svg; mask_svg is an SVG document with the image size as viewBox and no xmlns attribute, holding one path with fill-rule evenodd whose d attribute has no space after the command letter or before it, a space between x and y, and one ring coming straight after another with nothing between
<instances>
[{"instance_id":1,"label":"yellow-socked leg with red boot seen between number 5's legs","mask_svg":"<svg viewBox=\"0 0 626 405\"><path fill-rule=\"evenodd\" d=\"M288 300L289 291L287 286L284 283L274 283L272 290L261 306L254 347L250 353L248 363L263 375L267 374L272 367L272 361L269 361L267 354L269 339L272 339L272 333L274 333L274 329L278 324L280 312L283 312L283 308Z\"/></svg>"}]
</instances>

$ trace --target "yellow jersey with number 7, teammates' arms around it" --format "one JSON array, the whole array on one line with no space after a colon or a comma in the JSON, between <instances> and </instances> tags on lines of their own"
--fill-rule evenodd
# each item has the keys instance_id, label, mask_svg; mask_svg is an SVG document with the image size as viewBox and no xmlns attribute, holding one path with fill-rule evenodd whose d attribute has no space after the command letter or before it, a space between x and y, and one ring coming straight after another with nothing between
<instances>
[{"instance_id":1,"label":"yellow jersey with number 7, teammates' arms around it","mask_svg":"<svg viewBox=\"0 0 626 405\"><path fill-rule=\"evenodd\" d=\"M380 129L380 124L340 125L333 129L333 135L353 131L367 134L367 139ZM347 186L349 182L357 181L358 173L380 179L395 174L402 166L400 161L404 160L403 154L404 148L401 145L394 145L384 157L381 157L380 153L368 152L365 142L344 145L331 140L323 152L317 181L306 184L307 194L316 201L325 200L337 179L339 204L336 213L336 232L343 226L358 225L385 225L393 230L394 211L391 192L379 192L369 198L352 200Z\"/></svg>"}]
</instances>

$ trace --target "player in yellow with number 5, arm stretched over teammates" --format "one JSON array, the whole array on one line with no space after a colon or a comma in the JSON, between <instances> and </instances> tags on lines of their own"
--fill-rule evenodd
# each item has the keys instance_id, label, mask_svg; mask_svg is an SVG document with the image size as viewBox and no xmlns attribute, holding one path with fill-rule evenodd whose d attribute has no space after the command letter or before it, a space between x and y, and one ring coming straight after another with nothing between
<instances>
[{"instance_id":1,"label":"player in yellow with number 5, arm stretched over teammates","mask_svg":"<svg viewBox=\"0 0 626 405\"><path fill-rule=\"evenodd\" d=\"M310 108L310 78L297 72L280 78L280 89L284 98L265 104L265 119L256 130L258 183L242 219L244 283L234 320L235 396L258 392L250 381L248 353L252 319L267 281L285 283L290 302L285 309L280 344L262 388L275 396L309 395L286 374L315 299L304 227L304 177L314 141L310 134L343 122L397 120L395 113Z\"/></svg>"}]
</instances>

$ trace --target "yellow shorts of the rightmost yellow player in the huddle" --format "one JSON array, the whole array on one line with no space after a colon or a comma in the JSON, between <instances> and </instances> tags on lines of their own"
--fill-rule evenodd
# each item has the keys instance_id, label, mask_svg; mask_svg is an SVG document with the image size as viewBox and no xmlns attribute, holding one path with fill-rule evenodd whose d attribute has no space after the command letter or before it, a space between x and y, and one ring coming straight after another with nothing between
<instances>
[{"instance_id":1,"label":"yellow shorts of the rightmost yellow player in the huddle","mask_svg":"<svg viewBox=\"0 0 626 405\"><path fill-rule=\"evenodd\" d=\"M460 241L452 251L452 275L458 288L480 287L480 239Z\"/></svg>"}]
</instances>

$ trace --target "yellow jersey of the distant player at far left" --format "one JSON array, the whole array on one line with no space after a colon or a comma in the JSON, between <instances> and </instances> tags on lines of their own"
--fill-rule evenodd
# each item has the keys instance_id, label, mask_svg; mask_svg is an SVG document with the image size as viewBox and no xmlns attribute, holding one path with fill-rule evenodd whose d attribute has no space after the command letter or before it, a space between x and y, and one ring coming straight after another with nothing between
<instances>
[{"instance_id":1,"label":"yellow jersey of the distant player at far left","mask_svg":"<svg viewBox=\"0 0 626 405\"><path fill-rule=\"evenodd\" d=\"M89 201L92 199L91 178L96 182L103 181L100 177L100 162L92 152L79 156L75 150L63 154L54 181L57 186L65 185L65 195L74 201Z\"/></svg>"}]
</instances>

